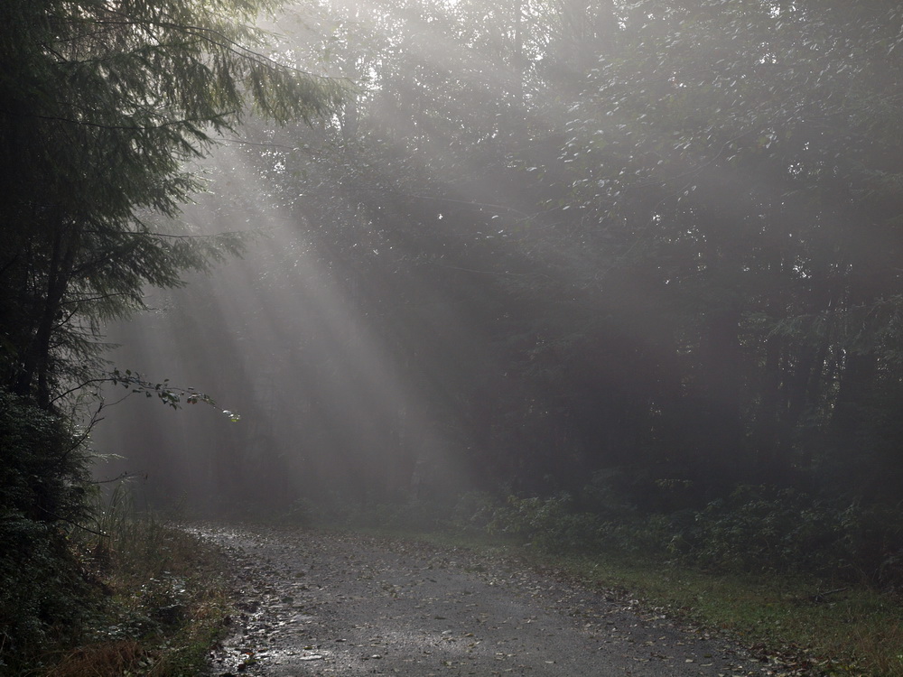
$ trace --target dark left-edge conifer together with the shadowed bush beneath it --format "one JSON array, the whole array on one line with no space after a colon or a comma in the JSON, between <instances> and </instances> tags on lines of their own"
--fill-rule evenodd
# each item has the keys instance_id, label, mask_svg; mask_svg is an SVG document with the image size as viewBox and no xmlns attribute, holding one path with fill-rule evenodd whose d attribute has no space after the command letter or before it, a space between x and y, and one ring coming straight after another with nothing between
<instances>
[{"instance_id":1,"label":"dark left-edge conifer together with the shadowed bush beneath it","mask_svg":"<svg viewBox=\"0 0 903 677\"><path fill-rule=\"evenodd\" d=\"M263 51L250 22L277 6L0 6L0 669L84 607L66 534L86 505L87 436L62 403L98 380L144 387L107 372L104 323L241 250L175 222L203 187L186 164L252 110L312 123L338 105L336 81Z\"/></svg>"}]
</instances>

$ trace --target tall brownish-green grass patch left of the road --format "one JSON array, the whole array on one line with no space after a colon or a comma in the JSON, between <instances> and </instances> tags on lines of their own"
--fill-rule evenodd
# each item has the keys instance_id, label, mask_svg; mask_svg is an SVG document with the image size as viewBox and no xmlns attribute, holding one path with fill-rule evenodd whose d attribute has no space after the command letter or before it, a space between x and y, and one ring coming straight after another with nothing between
<instances>
[{"instance_id":1,"label":"tall brownish-green grass patch left of the road","mask_svg":"<svg viewBox=\"0 0 903 677\"><path fill-rule=\"evenodd\" d=\"M116 491L79 550L98 611L79 646L42 657L36 677L189 677L207 667L231 611L228 560ZM103 536L99 534L105 534Z\"/></svg>"}]
</instances>

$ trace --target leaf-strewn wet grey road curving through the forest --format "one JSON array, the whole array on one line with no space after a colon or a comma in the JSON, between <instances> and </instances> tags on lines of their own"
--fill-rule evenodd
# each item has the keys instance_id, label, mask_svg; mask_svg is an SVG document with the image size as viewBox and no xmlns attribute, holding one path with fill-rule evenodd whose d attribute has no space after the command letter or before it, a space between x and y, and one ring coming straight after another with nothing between
<instances>
[{"instance_id":1,"label":"leaf-strewn wet grey road curving through the forest","mask_svg":"<svg viewBox=\"0 0 903 677\"><path fill-rule=\"evenodd\" d=\"M623 596L424 543L300 528L191 529L237 560L210 675L776 674Z\"/></svg>"}]
</instances>

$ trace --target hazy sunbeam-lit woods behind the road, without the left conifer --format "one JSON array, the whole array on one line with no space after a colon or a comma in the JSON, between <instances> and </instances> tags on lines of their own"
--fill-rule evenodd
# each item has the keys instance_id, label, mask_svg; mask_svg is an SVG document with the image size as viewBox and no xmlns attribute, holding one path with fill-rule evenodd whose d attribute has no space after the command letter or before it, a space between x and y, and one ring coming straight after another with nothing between
<instances>
[{"instance_id":1,"label":"hazy sunbeam-lit woods behind the road, without the left conifer","mask_svg":"<svg viewBox=\"0 0 903 677\"><path fill-rule=\"evenodd\" d=\"M291 8L270 56L349 97L201 163L185 221L247 253L148 290L109 357L217 405L107 392L98 477L215 514L893 494L884 11Z\"/></svg>"}]
</instances>

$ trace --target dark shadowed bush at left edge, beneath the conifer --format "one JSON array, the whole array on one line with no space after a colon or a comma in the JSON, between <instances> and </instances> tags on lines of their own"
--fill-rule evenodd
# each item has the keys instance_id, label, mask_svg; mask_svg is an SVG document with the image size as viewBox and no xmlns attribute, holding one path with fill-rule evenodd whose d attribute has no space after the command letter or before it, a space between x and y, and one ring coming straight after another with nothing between
<instances>
[{"instance_id":1,"label":"dark shadowed bush at left edge, beneath the conifer","mask_svg":"<svg viewBox=\"0 0 903 677\"><path fill-rule=\"evenodd\" d=\"M90 586L70 548L86 456L60 416L0 391L0 672L70 635Z\"/></svg>"}]
</instances>

